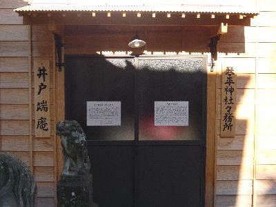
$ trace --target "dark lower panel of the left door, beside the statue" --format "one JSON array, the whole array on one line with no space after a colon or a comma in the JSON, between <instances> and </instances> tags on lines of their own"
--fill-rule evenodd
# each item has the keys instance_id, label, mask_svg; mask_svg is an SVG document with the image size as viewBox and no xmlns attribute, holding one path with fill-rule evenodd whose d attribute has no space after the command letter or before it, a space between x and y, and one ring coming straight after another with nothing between
<instances>
[{"instance_id":1,"label":"dark lower panel of the left door, beside the statue","mask_svg":"<svg viewBox=\"0 0 276 207\"><path fill-rule=\"evenodd\" d=\"M101 207L133 206L132 144L92 144L88 155L93 176L93 197Z\"/></svg>"}]
</instances>

